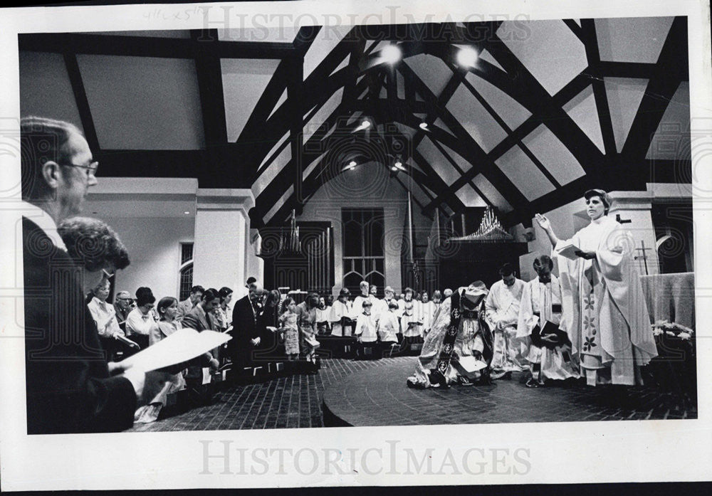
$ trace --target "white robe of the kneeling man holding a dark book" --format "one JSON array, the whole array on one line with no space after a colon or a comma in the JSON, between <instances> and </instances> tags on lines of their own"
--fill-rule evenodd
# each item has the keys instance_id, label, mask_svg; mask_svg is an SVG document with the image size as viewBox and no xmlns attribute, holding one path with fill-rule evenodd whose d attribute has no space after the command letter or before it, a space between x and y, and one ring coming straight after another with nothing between
<instances>
[{"instance_id":1,"label":"white robe of the kneeling man holding a dark book","mask_svg":"<svg viewBox=\"0 0 712 496\"><path fill-rule=\"evenodd\" d=\"M519 307L517 339L521 343L522 354L531 364L540 364L540 381L544 379L568 379L578 377L578 366L566 362L561 347L550 349L538 347L531 342L531 333L538 324L543 328L546 322L559 324L561 314L553 312L552 305L561 305L561 287L555 275L548 283L541 283L537 276L525 283ZM570 339L570 338L569 338Z\"/></svg>"}]
</instances>

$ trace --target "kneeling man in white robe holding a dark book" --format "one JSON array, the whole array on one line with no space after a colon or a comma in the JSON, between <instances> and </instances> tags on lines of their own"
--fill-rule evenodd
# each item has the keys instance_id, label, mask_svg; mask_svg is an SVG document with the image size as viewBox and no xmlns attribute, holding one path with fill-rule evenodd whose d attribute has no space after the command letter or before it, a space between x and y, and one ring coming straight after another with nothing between
<instances>
[{"instance_id":1,"label":"kneeling man in white robe holding a dark book","mask_svg":"<svg viewBox=\"0 0 712 496\"><path fill-rule=\"evenodd\" d=\"M551 273L553 268L553 260L548 255L535 258L534 270L538 275L525 283L522 291L517 339L530 363L532 376L526 383L530 388L543 385L545 379L579 376L578 366L571 361L570 338L562 340L556 334L541 332L546 322L558 326L561 321L561 288L558 278Z\"/></svg>"}]
</instances>

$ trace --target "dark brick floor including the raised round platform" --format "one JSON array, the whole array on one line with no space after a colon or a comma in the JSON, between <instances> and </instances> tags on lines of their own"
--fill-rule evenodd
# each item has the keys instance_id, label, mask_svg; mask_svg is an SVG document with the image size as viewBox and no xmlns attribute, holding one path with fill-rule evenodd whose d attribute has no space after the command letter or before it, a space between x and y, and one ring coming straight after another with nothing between
<instances>
[{"instance_id":1,"label":"dark brick floor including the raised round platform","mask_svg":"<svg viewBox=\"0 0 712 496\"><path fill-rule=\"evenodd\" d=\"M357 426L400 426L697 418L696 405L642 386L628 389L624 399L601 387L527 389L516 375L491 386L408 389L405 380L414 361L325 359L318 374L231 386L216 394L210 406L135 424L131 431L324 427L324 404L328 425L340 425L335 419ZM434 411L439 414L433 416Z\"/></svg>"}]
</instances>

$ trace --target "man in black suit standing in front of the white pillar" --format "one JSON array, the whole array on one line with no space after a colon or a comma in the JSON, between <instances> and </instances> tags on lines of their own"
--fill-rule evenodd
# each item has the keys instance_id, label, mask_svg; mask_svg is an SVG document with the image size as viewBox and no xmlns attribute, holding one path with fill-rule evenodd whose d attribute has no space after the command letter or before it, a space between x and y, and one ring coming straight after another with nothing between
<instances>
[{"instance_id":1,"label":"man in black suit standing in front of the white pillar","mask_svg":"<svg viewBox=\"0 0 712 496\"><path fill-rule=\"evenodd\" d=\"M257 332L258 301L262 288L252 283L249 293L237 300L232 311L232 339L227 343L235 372L252 364L252 353L259 346L261 338Z\"/></svg>"}]
</instances>

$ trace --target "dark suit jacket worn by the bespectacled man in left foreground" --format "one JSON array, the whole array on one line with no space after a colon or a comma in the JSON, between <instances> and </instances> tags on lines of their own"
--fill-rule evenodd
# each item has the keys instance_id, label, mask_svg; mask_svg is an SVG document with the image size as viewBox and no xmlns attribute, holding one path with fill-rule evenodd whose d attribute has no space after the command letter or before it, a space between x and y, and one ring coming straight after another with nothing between
<instances>
[{"instance_id":1,"label":"dark suit jacket worn by the bespectacled man in left foreground","mask_svg":"<svg viewBox=\"0 0 712 496\"><path fill-rule=\"evenodd\" d=\"M136 394L128 379L109 376L80 268L35 223L23 218L22 228L27 433L129 428Z\"/></svg>"}]
</instances>

